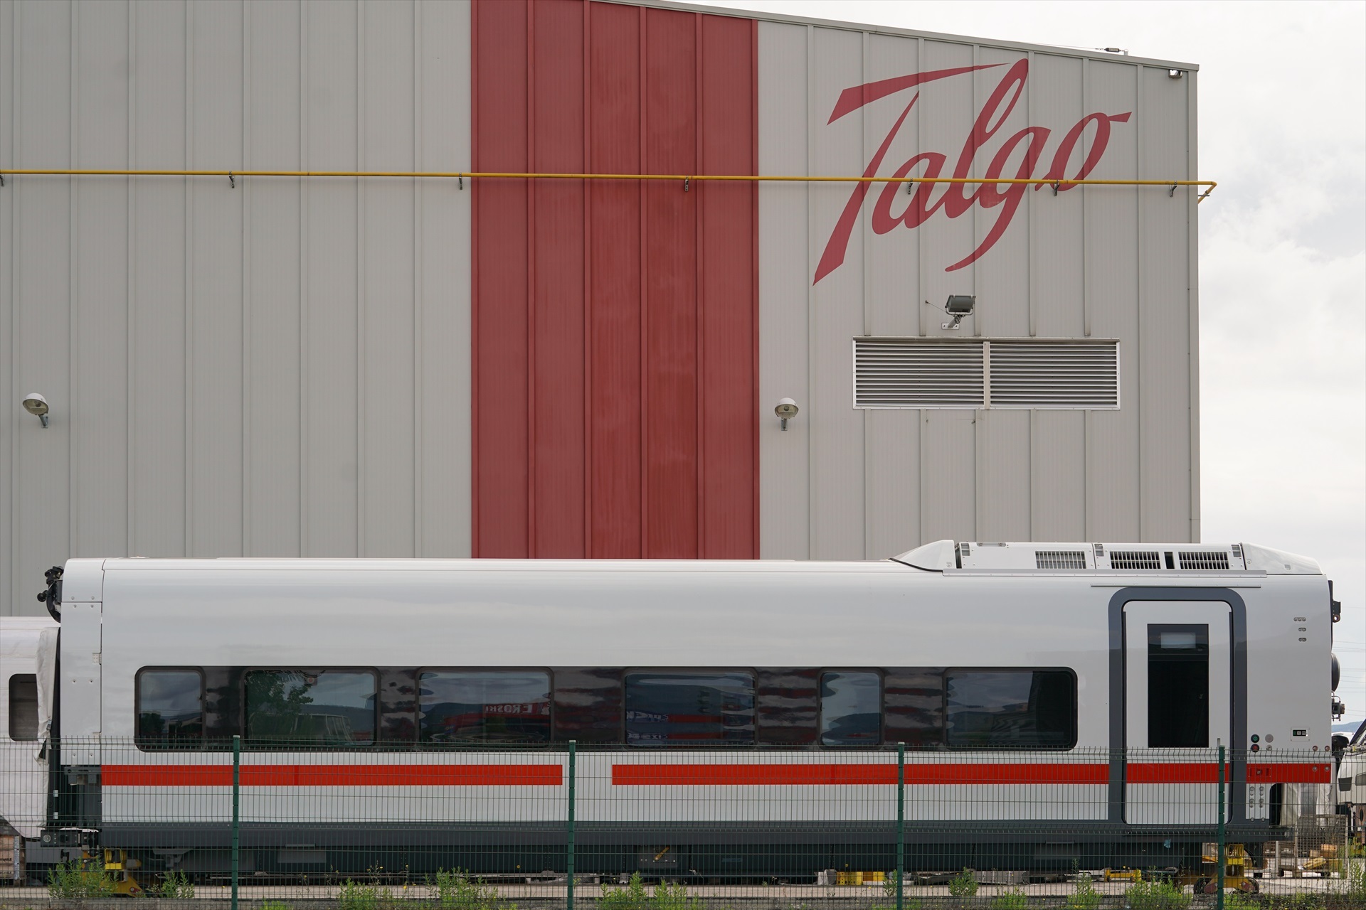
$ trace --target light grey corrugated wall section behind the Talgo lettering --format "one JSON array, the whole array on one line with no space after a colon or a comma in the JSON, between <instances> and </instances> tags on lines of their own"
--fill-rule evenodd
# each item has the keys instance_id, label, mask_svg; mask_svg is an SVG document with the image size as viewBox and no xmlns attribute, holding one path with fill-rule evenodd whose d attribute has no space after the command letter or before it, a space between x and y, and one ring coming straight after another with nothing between
<instances>
[{"instance_id":1,"label":"light grey corrugated wall section behind the Talgo lettering","mask_svg":"<svg viewBox=\"0 0 1366 910\"><path fill-rule=\"evenodd\" d=\"M964 176L984 176L1005 138L1026 127L1050 136L1023 176L1046 176L1074 124L1102 112L1111 135L1091 177L1195 177L1193 71L1172 78L1165 65L1124 57L780 22L761 22L758 41L759 173L856 175L882 150L880 175L938 151L951 176L1012 71L1024 75L1018 102L1004 119L1007 105L994 108L986 127L999 135ZM1016 71L1022 60L1027 71ZM959 72L887 97L887 85L870 85L938 71ZM1068 176L1097 131L1093 120L1067 158ZM1024 157L1020 146L997 173L1019 176ZM764 557L881 558L941 538L1199 539L1193 188L1031 190L994 244L953 267L990 237L1003 206L952 218L940 210L914 231L889 229L885 218L912 201L874 186L841 263L821 274L851 192L759 190L759 407L765 416L783 397L802 407L785 432L776 419L761 423ZM926 192L933 210L959 190ZM958 333L941 330L943 312L922 303L949 293L977 295L977 315ZM947 334L1117 338L1121 408L851 407L854 336Z\"/></svg>"}]
</instances>

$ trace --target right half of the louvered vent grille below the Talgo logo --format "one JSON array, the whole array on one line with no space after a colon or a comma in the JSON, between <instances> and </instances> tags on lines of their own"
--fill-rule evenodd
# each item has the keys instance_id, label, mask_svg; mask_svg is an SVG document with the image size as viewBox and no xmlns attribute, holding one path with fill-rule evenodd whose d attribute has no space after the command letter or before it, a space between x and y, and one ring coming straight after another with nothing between
<instances>
[{"instance_id":1,"label":"right half of the louvered vent grille below the Talgo logo","mask_svg":"<svg viewBox=\"0 0 1366 910\"><path fill-rule=\"evenodd\" d=\"M1119 345L992 342L993 408L1117 408Z\"/></svg>"}]
</instances>

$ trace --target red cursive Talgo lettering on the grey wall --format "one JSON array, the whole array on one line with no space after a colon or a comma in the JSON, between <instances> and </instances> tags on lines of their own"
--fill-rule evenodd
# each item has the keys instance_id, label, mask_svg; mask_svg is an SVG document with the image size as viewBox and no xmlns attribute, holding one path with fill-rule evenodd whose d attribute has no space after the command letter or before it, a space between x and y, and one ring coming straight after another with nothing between
<instances>
[{"instance_id":1,"label":"red cursive Talgo lettering on the grey wall","mask_svg":"<svg viewBox=\"0 0 1366 910\"><path fill-rule=\"evenodd\" d=\"M866 104L872 104L873 101L878 101L899 91L906 91L907 89L912 89L926 82L948 79L966 72L990 70L1001 65L1005 64L989 63L981 67L933 70L930 72L915 72L907 76L896 76L895 79L882 79L880 82L867 82L861 86L854 86L852 89L846 89L840 93L840 98L835 104L835 111L831 113L831 119L826 123L835 123L844 115L858 111ZM992 138L1000 131L1001 124L1005 123L1005 119L1009 117L1011 111L1015 109L1015 104L1020 100L1020 94L1024 91L1024 80L1027 78L1027 59L1016 61L1009 70L1007 70L1005 76L1001 79L1000 85L996 86L996 90L992 91L992 97L986 100L982 111L977 115L977 121L973 123L973 132L963 142L963 150L958 156L958 164L953 165L953 173L944 173L944 165L948 164L948 156L941 151L922 151L911 157L908 161L904 161L896 171L892 172L891 176L977 176L973 173L973 162L977 158L978 151L992 141ZM863 171L865 177L877 175L878 169L882 166L882 158L887 157L887 150L892 147L892 139L896 138L896 134L900 131L902 124L906 123L906 117L911 113L911 109L915 106L915 102L919 101L919 91L911 96L906 109L902 111L902 116L899 116L896 123L892 124L887 138L882 139L882 145L878 146L877 151L873 154L873 160L867 162L867 168ZM1105 154L1105 146L1109 145L1111 124L1128 123L1131 113L1131 111L1126 111L1124 113L1089 113L1078 120L1076 126L1067 131L1067 135L1063 136L1063 141L1053 151L1052 164L1048 171L1041 175L1041 179L1056 183L1059 191L1071 190L1075 184L1065 181L1067 162L1071 160L1072 153L1076 151L1078 146L1085 142L1087 128L1094 126L1091 143L1090 147L1086 147L1086 157L1082 160L1082 166L1078 168L1075 175L1072 175L1072 180L1085 179L1086 175L1096 168L1101 156ZM992 157L992 162L986 165L986 171L982 172L981 176L985 179L1003 176L1020 179L1033 177L1038 162L1044 157L1044 150L1052 132L1053 131L1048 127L1024 127L1007 139L1000 149L997 149L996 154ZM1019 162L1015 166L1015 172L1005 173L1005 169L1012 161ZM970 211L974 205L982 206L984 210L1000 209L990 231L986 232L986 236L977 246L977 248L973 250L973 252L970 252L966 258L948 266L945 271L953 271L977 262L988 250L996 246L996 241L1001 239L1001 235L1005 233L1005 229L1011 225L1011 220L1015 217L1015 211L1019 210L1020 201L1024 198L1024 191L1029 188L1029 184L1023 183L921 183L915 186L915 192L911 194L910 202L900 211L893 211L893 206L897 203L897 192L902 190L902 186L903 184L900 183L881 184L881 192L877 196L877 202L873 205L873 233L888 233L895 231L897 225L914 229L941 211L947 218L958 218L959 216ZM848 202L844 203L840 220L835 224L835 231L831 232L831 237L825 243L825 252L821 254L821 262L816 266L816 281L811 284L816 284L844 263L844 252L848 248L850 235L854 232L854 225L858 224L859 210L863 207L863 199L867 198L870 187L873 187L872 183L856 184ZM1041 187L1038 184L1034 184L1034 190L1040 188Z\"/></svg>"}]
</instances>

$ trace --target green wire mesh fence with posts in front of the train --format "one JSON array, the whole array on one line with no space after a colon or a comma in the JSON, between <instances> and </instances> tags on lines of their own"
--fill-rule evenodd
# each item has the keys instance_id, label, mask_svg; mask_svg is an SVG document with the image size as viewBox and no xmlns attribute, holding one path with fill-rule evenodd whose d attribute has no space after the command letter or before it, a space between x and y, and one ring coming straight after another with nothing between
<instances>
[{"instance_id":1,"label":"green wire mesh fence with posts in front of the train","mask_svg":"<svg viewBox=\"0 0 1366 910\"><path fill-rule=\"evenodd\" d=\"M1366 906L1335 778L1223 748L18 744L0 907Z\"/></svg>"}]
</instances>

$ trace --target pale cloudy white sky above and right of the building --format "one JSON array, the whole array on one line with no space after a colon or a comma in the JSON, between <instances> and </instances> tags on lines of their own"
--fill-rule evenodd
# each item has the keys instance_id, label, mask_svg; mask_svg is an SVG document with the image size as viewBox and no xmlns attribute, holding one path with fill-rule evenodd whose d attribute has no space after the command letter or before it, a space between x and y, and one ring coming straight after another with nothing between
<instances>
[{"instance_id":1,"label":"pale cloudy white sky above and right of the building","mask_svg":"<svg viewBox=\"0 0 1366 910\"><path fill-rule=\"evenodd\" d=\"M1366 3L701 1L1199 65L1202 536L1322 563L1366 716Z\"/></svg>"}]
</instances>

